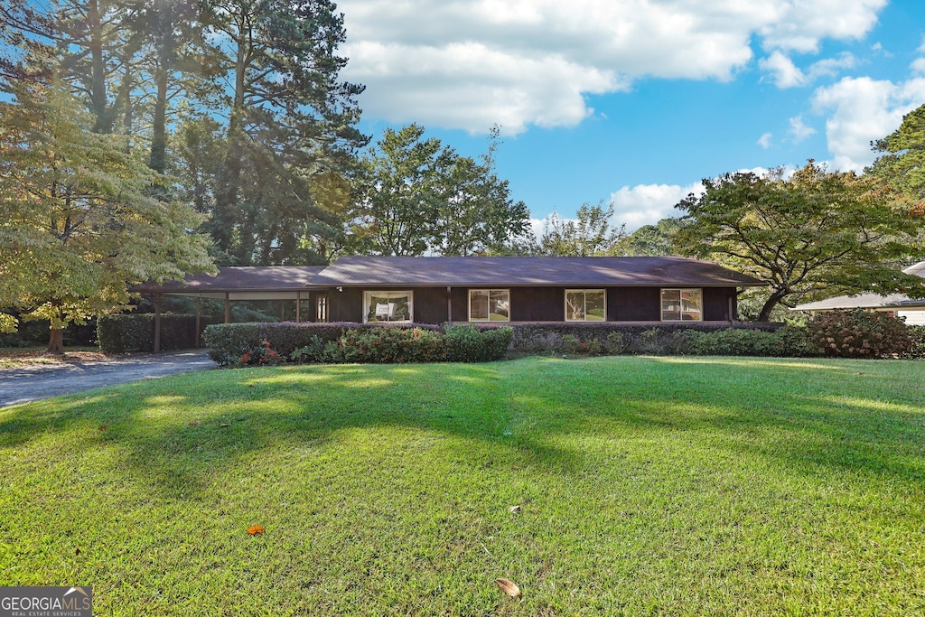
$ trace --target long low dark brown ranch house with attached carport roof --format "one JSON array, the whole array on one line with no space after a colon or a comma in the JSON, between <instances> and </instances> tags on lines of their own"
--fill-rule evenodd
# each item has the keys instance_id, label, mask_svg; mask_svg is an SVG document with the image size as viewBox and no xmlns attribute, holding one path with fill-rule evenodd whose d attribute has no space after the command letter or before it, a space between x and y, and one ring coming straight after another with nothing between
<instances>
[{"instance_id":1,"label":"long low dark brown ranch house with attached carport roof","mask_svg":"<svg viewBox=\"0 0 925 617\"><path fill-rule=\"evenodd\" d=\"M136 291L295 300L297 321L731 322L738 288L764 285L682 257L341 257L327 267L219 268ZM309 310L301 310L302 302Z\"/></svg>"}]
</instances>

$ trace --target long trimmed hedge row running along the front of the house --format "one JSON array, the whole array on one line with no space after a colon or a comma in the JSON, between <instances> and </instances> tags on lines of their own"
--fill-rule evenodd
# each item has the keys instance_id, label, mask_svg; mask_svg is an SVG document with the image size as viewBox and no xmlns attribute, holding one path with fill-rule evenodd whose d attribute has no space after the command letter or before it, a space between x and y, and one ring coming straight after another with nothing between
<instances>
[{"instance_id":1,"label":"long trimmed hedge row running along the front of the house","mask_svg":"<svg viewBox=\"0 0 925 617\"><path fill-rule=\"evenodd\" d=\"M925 356L919 347L904 357ZM416 332L416 334L415 334ZM438 332L442 332L438 336ZM444 327L355 323L216 324L203 340L223 366L240 364L244 352L268 342L290 362L486 362L509 351L573 354L821 355L808 327L782 324L485 324ZM352 341L352 342L351 342ZM918 350L919 356L910 355Z\"/></svg>"}]
</instances>

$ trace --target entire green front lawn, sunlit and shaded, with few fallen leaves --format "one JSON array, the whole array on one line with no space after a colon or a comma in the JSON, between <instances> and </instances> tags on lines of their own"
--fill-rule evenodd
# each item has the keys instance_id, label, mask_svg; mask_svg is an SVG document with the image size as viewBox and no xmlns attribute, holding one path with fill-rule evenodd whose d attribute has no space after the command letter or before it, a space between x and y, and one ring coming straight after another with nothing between
<instances>
[{"instance_id":1,"label":"entire green front lawn, sunlit and shaded, with few fallen leaves","mask_svg":"<svg viewBox=\"0 0 925 617\"><path fill-rule=\"evenodd\" d=\"M92 585L101 615L925 614L923 410L900 361L93 390L0 411L0 585Z\"/></svg>"}]
</instances>

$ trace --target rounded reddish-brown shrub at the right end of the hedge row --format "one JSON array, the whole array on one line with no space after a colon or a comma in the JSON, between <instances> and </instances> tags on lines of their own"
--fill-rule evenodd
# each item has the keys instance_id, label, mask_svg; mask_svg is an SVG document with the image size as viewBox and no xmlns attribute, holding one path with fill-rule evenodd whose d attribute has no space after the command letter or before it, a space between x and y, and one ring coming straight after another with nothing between
<instances>
[{"instance_id":1,"label":"rounded reddish-brown shrub at the right end of the hedge row","mask_svg":"<svg viewBox=\"0 0 925 617\"><path fill-rule=\"evenodd\" d=\"M884 358L907 353L913 344L909 327L886 313L831 311L807 326L810 342L825 355Z\"/></svg>"}]
</instances>

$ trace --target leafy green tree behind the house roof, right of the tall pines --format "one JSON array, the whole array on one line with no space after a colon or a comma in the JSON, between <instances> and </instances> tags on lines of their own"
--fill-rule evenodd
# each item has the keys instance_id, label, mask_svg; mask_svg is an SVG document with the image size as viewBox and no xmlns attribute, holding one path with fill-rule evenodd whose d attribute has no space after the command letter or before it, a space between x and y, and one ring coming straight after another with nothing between
<instances>
[{"instance_id":1,"label":"leafy green tree behind the house roof, right of the tall pines","mask_svg":"<svg viewBox=\"0 0 925 617\"><path fill-rule=\"evenodd\" d=\"M382 255L503 253L527 233L530 213L511 199L492 155L462 156L412 124L387 129L367 154L348 220L349 250Z\"/></svg>"}]
</instances>

